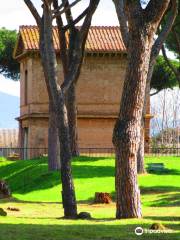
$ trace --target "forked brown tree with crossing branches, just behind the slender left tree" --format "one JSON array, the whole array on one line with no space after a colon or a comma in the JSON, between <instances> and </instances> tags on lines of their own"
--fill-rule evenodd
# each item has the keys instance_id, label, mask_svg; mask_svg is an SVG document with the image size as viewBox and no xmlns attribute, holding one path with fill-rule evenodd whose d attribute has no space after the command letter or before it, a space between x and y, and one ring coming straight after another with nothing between
<instances>
[{"instance_id":1,"label":"forked brown tree with crossing branches, just behind the slender left tree","mask_svg":"<svg viewBox=\"0 0 180 240\"><path fill-rule=\"evenodd\" d=\"M84 57L85 43L91 25L92 16L99 4L99 0L90 0L89 6L76 19L73 19L69 1L62 1L62 3L66 9L65 17L67 25L63 25L63 19L60 15L56 17L56 22L58 26L59 43L61 49L60 56L65 79L65 84L63 87L66 91L66 105L71 139L71 152L73 156L78 156L79 150L77 133L76 83L80 75ZM57 0L53 0L53 6L55 9L58 9ZM84 20L81 27L77 27L76 24L83 18ZM68 41L65 36L66 30L69 30ZM71 80L66 81L69 78L69 75L71 75Z\"/></svg>"}]
</instances>

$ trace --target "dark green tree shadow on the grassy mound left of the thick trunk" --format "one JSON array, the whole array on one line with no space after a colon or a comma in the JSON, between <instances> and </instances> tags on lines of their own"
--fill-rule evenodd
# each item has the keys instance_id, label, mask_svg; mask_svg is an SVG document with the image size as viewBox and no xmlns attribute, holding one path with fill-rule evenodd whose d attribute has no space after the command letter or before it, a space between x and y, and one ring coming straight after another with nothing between
<instances>
[{"instance_id":1,"label":"dark green tree shadow on the grassy mound left of the thick trunk","mask_svg":"<svg viewBox=\"0 0 180 240\"><path fill-rule=\"evenodd\" d=\"M74 179L114 176L114 167L74 165ZM59 171L48 171L47 159L16 161L0 167L0 179L5 179L12 193L52 188L61 183Z\"/></svg>"}]
</instances>

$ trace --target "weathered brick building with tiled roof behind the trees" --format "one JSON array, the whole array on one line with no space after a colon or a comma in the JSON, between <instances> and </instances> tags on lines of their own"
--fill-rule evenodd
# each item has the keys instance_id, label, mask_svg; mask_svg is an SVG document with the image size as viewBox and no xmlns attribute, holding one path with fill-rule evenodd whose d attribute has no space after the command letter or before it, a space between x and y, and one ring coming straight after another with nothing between
<instances>
[{"instance_id":1,"label":"weathered brick building with tiled roof behind the trees","mask_svg":"<svg viewBox=\"0 0 180 240\"><path fill-rule=\"evenodd\" d=\"M57 29L54 46L59 55ZM36 26L22 26L14 51L20 62L20 145L47 147L48 95L39 56ZM59 60L59 81L62 66ZM91 27L77 85L78 135L81 148L112 147L112 130L119 110L126 69L126 49L119 27ZM149 101L148 101L149 102ZM127 106L128 107L128 106ZM149 146L149 104L145 146ZM32 157L32 156L30 156Z\"/></svg>"}]
</instances>

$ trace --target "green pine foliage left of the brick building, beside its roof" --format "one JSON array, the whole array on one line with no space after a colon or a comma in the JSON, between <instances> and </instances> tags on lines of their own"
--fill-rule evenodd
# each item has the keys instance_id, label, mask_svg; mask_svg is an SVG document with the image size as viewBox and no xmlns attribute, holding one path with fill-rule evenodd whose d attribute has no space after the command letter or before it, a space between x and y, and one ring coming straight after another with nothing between
<instances>
[{"instance_id":1,"label":"green pine foliage left of the brick building, beside its roof","mask_svg":"<svg viewBox=\"0 0 180 240\"><path fill-rule=\"evenodd\" d=\"M19 63L12 54L17 39L16 31L0 29L0 73L13 80L19 79Z\"/></svg>"}]
</instances>

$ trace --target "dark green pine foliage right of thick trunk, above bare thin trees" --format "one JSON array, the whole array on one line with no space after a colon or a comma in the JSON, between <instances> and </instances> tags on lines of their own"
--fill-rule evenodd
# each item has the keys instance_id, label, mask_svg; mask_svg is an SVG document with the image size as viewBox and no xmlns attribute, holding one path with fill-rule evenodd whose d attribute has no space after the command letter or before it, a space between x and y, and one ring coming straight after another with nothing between
<instances>
[{"instance_id":1,"label":"dark green pine foliage right of thick trunk, above bare thin trees","mask_svg":"<svg viewBox=\"0 0 180 240\"><path fill-rule=\"evenodd\" d=\"M178 68L179 63L177 61L171 60L171 63L175 68ZM154 71L151 79L151 89L161 91L166 88L172 89L175 86L178 86L178 81L174 73L167 66L167 63L164 60L164 58L159 56L154 66Z\"/></svg>"}]
</instances>

